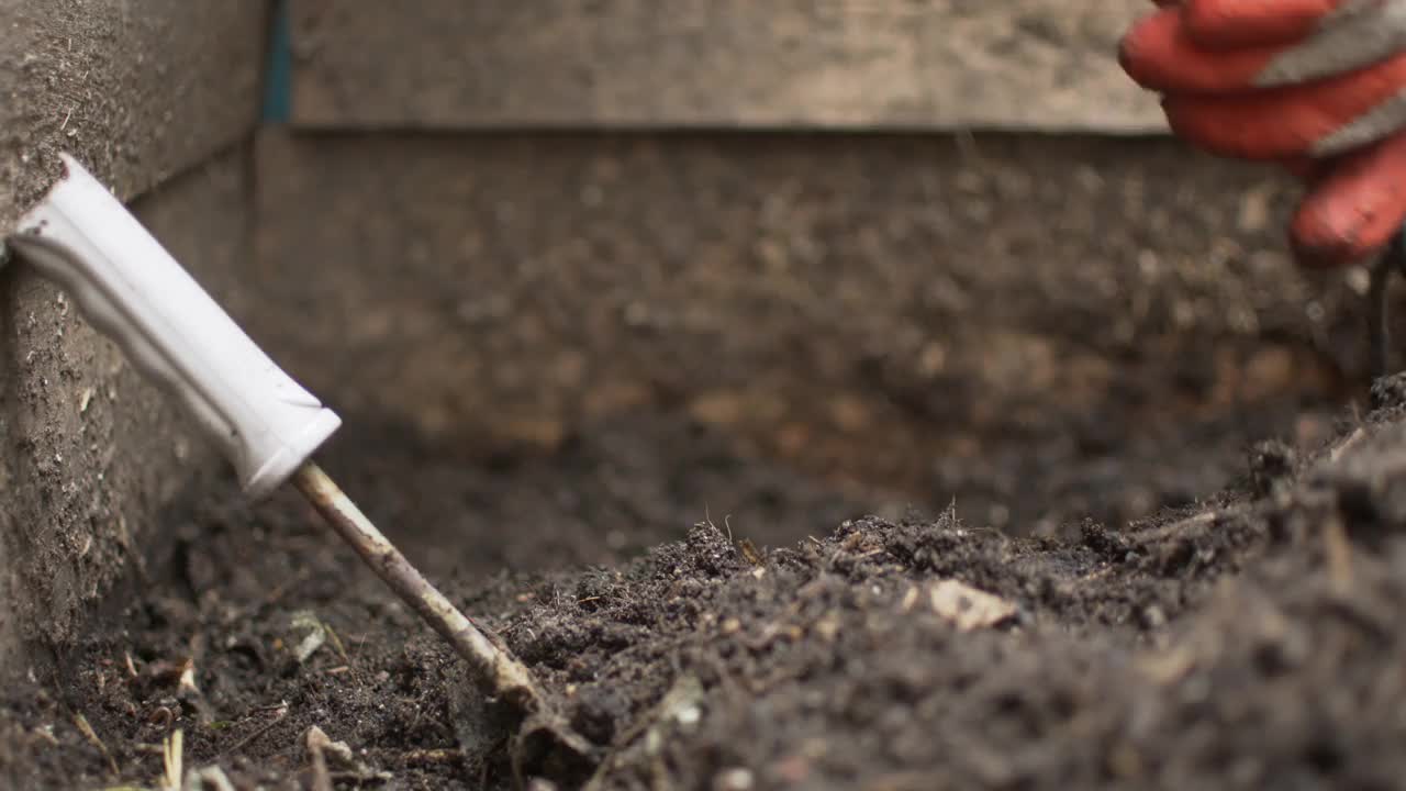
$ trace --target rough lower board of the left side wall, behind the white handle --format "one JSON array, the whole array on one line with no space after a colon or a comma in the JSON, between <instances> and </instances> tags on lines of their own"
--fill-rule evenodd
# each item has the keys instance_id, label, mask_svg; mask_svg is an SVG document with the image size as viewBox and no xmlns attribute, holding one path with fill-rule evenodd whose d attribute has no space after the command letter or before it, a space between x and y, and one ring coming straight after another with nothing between
<instances>
[{"instance_id":1,"label":"rough lower board of the left side wall, behind the white handle","mask_svg":"<svg viewBox=\"0 0 1406 791\"><path fill-rule=\"evenodd\" d=\"M226 273L247 258L246 170L240 146L134 204L217 298ZM0 274L0 435L10 462L0 480L7 593L0 618L11 638L62 647L114 583L141 574L141 563L129 562L157 538L152 515L195 476L217 474L217 462L170 400L84 324L66 296L11 270Z\"/></svg>"}]
</instances>

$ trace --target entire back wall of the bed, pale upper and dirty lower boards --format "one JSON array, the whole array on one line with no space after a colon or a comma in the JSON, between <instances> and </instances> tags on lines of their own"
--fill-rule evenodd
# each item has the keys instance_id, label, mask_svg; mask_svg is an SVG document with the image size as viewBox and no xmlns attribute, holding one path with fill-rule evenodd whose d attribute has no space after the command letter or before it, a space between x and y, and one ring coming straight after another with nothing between
<instances>
[{"instance_id":1,"label":"entire back wall of the bed, pale upper and dirty lower boards","mask_svg":"<svg viewBox=\"0 0 1406 791\"><path fill-rule=\"evenodd\" d=\"M1150 8L292 0L240 310L467 453L681 408L922 491L1333 391L1362 281L1292 267L1281 173L1161 134L1116 65Z\"/></svg>"}]
</instances>

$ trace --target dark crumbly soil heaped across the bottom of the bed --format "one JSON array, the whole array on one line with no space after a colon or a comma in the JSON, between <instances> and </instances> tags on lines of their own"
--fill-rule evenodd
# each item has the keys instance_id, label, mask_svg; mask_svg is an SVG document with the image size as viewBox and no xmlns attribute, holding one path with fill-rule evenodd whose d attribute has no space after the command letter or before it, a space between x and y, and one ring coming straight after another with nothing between
<instances>
[{"instance_id":1,"label":"dark crumbly soil heaped across the bottom of the bed","mask_svg":"<svg viewBox=\"0 0 1406 791\"><path fill-rule=\"evenodd\" d=\"M1327 442L1208 456L1188 474L1237 474L1206 500L1025 536L682 419L491 469L349 421L325 466L540 676L593 766L534 778L541 753L485 725L457 659L297 495L204 493L112 629L6 691L0 778L156 788L179 729L194 788L510 788L515 768L536 788L1398 788L1403 394L1385 380Z\"/></svg>"}]
</instances>

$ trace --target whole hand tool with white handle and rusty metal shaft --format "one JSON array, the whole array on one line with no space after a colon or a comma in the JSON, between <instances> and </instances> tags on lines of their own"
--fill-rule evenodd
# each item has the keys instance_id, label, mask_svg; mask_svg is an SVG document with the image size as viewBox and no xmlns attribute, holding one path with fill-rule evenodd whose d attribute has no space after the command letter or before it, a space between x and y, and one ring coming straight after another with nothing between
<instances>
[{"instance_id":1,"label":"whole hand tool with white handle and rusty metal shaft","mask_svg":"<svg viewBox=\"0 0 1406 791\"><path fill-rule=\"evenodd\" d=\"M489 701L538 729L548 718L531 673L440 594L318 467L342 425L284 373L76 159L7 236L13 259L67 291L79 312L184 407L263 500L291 483L395 594L440 633Z\"/></svg>"}]
</instances>

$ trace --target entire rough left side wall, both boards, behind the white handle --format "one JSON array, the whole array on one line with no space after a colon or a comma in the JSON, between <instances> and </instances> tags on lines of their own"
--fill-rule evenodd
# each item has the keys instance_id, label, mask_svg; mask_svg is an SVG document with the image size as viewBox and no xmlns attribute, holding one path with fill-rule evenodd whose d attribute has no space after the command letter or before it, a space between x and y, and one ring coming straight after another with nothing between
<instances>
[{"instance_id":1,"label":"entire rough left side wall, both boards, behind the white handle","mask_svg":"<svg viewBox=\"0 0 1406 791\"><path fill-rule=\"evenodd\" d=\"M83 160L197 273L245 258L267 7L0 0L0 227ZM0 670L62 643L204 446L22 267L0 272Z\"/></svg>"}]
</instances>

